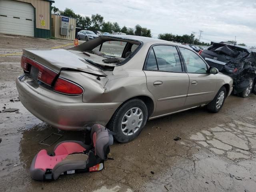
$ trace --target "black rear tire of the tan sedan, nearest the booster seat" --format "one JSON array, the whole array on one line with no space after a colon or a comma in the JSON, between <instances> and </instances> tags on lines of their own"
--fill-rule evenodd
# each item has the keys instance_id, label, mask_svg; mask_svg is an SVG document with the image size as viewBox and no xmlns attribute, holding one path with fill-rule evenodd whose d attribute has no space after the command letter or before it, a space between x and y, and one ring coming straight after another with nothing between
<instances>
[{"instance_id":1,"label":"black rear tire of the tan sedan, nearest the booster seat","mask_svg":"<svg viewBox=\"0 0 256 192\"><path fill-rule=\"evenodd\" d=\"M135 113L136 109L137 113ZM140 115L140 113L142 114ZM148 110L146 104L140 99L132 99L122 104L116 110L107 127L116 133L114 137L118 142L126 143L134 140L140 134L147 120ZM122 124L122 122L127 122L127 124Z\"/></svg>"}]
</instances>

